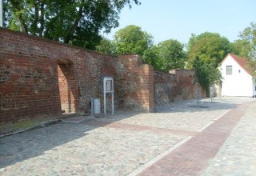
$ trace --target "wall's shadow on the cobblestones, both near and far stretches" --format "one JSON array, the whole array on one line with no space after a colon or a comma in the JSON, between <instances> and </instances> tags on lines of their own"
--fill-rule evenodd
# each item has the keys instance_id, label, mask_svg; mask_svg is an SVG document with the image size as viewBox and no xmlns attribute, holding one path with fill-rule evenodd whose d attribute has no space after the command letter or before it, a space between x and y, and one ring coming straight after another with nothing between
<instances>
[{"instance_id":1,"label":"wall's shadow on the cobblestones, both near and far stretches","mask_svg":"<svg viewBox=\"0 0 256 176\"><path fill-rule=\"evenodd\" d=\"M228 110L238 106L238 103L230 102L202 102L202 106L209 108L198 108L194 106L194 101L170 103L170 110L164 110L160 113L174 112L195 112L195 111L211 111L211 110ZM71 145L69 142L78 138L82 138L90 134L95 128L109 125L122 119L130 118L140 114L132 111L116 111L115 115L107 115L106 117L94 118L94 122L82 122L81 124L70 124L60 122L58 124L45 126L40 129L30 130L21 134L14 134L0 138L0 168L22 162L26 159L34 158L45 154L48 150L58 150L58 146ZM97 122L95 122L97 121ZM88 123L86 125L86 123ZM85 148L86 150L86 148ZM46 161L47 162L47 161Z\"/></svg>"}]
</instances>

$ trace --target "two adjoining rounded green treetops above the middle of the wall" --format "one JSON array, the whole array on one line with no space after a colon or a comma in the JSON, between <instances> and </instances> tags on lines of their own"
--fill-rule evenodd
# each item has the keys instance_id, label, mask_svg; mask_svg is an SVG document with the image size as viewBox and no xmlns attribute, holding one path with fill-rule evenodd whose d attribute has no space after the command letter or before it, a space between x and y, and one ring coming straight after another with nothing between
<instances>
[{"instance_id":1,"label":"two adjoining rounded green treetops above the middle of the wall","mask_svg":"<svg viewBox=\"0 0 256 176\"><path fill-rule=\"evenodd\" d=\"M184 46L177 40L153 44L153 37L139 26L126 26L114 35L115 54L139 54L155 70L183 69L186 61Z\"/></svg>"}]
</instances>

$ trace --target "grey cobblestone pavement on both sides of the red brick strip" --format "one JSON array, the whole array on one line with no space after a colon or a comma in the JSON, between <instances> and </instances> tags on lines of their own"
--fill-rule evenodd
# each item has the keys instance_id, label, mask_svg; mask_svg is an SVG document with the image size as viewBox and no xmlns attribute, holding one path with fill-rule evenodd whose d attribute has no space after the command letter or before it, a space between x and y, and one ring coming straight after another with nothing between
<instances>
[{"instance_id":1,"label":"grey cobblestone pavement on both sides of the red brick strip","mask_svg":"<svg viewBox=\"0 0 256 176\"><path fill-rule=\"evenodd\" d=\"M206 99L201 102L202 107L193 107L194 100L175 102L170 103L170 110L161 113L118 111L113 116L93 118L89 122L61 122L0 138L0 175L143 174L149 166L186 146L190 139L204 134L228 110L252 100L221 98L212 103ZM255 139L255 119L250 124L255 117L255 112L251 113L254 107L255 104L250 106L202 174L221 174L222 168L229 170L230 161L236 157L240 162L249 163L243 163L242 170L255 165L255 149L252 148L255 142L246 147L238 145ZM243 130L248 125L248 129ZM248 137L240 140L244 132ZM230 158L230 154L234 154L234 158ZM239 168L236 166L239 162L231 164ZM255 167L248 173L255 174ZM168 172L166 175L175 174Z\"/></svg>"}]
</instances>

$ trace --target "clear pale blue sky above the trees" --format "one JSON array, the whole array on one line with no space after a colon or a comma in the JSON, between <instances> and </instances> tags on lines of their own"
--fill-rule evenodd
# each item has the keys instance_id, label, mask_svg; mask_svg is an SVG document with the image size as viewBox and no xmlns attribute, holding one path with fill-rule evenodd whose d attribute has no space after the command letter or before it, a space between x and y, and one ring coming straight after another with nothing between
<instances>
[{"instance_id":1,"label":"clear pale blue sky above the trees","mask_svg":"<svg viewBox=\"0 0 256 176\"><path fill-rule=\"evenodd\" d=\"M119 27L104 34L113 39L114 33L129 25L140 26L153 35L154 43L176 39L186 44L192 33L206 31L221 34L230 42L239 39L250 22L256 22L256 0L140 0L142 4L125 7Z\"/></svg>"}]
</instances>

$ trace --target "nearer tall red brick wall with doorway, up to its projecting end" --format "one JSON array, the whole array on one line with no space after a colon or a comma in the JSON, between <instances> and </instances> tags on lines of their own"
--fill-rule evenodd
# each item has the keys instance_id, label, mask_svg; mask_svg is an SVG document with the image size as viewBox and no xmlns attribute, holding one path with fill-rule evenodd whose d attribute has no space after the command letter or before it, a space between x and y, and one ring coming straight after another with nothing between
<instances>
[{"instance_id":1,"label":"nearer tall red brick wall with doorway, up to its projecting end","mask_svg":"<svg viewBox=\"0 0 256 176\"><path fill-rule=\"evenodd\" d=\"M114 78L116 108L154 108L154 72L138 56L98 54L3 28L0 38L0 134L58 121L62 110L90 114L91 98L103 104L104 77Z\"/></svg>"}]
</instances>

